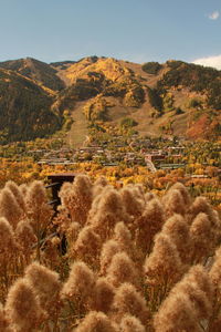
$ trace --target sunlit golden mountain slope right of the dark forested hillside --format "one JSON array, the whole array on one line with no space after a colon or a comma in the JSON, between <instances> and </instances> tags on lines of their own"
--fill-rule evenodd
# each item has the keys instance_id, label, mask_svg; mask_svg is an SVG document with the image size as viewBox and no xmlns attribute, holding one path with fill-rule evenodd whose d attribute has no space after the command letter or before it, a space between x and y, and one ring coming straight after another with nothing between
<instances>
[{"instance_id":1,"label":"sunlit golden mountain slope right of the dark forested hillside","mask_svg":"<svg viewBox=\"0 0 221 332\"><path fill-rule=\"evenodd\" d=\"M85 101L90 121L117 123L130 116L140 134L220 135L220 71L181 61L140 65L92 56L57 74L67 84L57 96L59 107L73 111Z\"/></svg>"}]
</instances>

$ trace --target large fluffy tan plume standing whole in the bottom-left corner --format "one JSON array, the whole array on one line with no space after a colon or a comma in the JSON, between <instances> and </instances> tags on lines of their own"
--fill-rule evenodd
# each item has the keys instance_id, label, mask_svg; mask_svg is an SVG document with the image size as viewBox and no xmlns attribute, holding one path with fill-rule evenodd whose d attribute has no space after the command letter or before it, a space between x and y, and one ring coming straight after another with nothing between
<instances>
[{"instance_id":1,"label":"large fluffy tan plume standing whole in the bottom-left corner","mask_svg":"<svg viewBox=\"0 0 221 332\"><path fill-rule=\"evenodd\" d=\"M45 319L45 312L27 279L18 279L10 288L6 312L19 332L32 332Z\"/></svg>"}]
</instances>

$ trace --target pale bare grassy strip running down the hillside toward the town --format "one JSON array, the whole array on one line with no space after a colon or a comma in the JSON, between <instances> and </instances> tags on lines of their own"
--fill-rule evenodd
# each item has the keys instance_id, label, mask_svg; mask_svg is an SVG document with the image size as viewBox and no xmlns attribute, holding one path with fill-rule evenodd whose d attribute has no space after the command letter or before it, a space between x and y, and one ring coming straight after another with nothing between
<instances>
[{"instance_id":1,"label":"pale bare grassy strip running down the hillside toward the town","mask_svg":"<svg viewBox=\"0 0 221 332\"><path fill-rule=\"evenodd\" d=\"M88 121L86 121L83 114L83 106L85 102L80 102L76 104L75 108L72 111L73 124L67 133L67 144L77 148L83 146L86 136L88 135Z\"/></svg>"}]
</instances>

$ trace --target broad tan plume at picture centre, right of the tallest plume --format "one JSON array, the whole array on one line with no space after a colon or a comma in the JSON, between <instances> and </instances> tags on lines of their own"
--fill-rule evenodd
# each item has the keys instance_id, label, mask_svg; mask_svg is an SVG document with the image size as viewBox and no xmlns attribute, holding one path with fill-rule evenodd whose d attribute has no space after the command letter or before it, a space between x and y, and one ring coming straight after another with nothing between
<instances>
[{"instance_id":1,"label":"broad tan plume at picture centre, right of the tallest plume","mask_svg":"<svg viewBox=\"0 0 221 332\"><path fill-rule=\"evenodd\" d=\"M120 194L115 189L107 188L98 203L97 214L90 222L105 240L113 235L117 221L129 221L129 216L125 211Z\"/></svg>"}]
</instances>

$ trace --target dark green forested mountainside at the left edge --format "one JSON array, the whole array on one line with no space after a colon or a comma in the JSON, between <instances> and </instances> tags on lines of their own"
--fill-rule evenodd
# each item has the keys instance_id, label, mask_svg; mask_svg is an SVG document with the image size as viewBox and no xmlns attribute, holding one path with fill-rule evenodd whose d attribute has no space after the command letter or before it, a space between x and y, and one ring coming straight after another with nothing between
<instances>
[{"instance_id":1,"label":"dark green forested mountainside at the left edge","mask_svg":"<svg viewBox=\"0 0 221 332\"><path fill-rule=\"evenodd\" d=\"M0 69L0 144L52 134L61 116L51 111L53 94L17 72Z\"/></svg>"}]
</instances>

